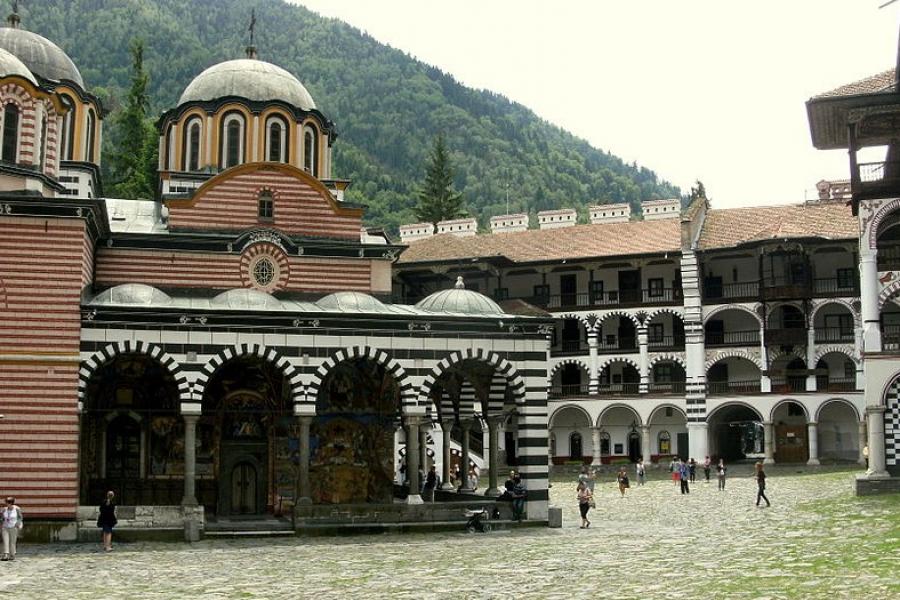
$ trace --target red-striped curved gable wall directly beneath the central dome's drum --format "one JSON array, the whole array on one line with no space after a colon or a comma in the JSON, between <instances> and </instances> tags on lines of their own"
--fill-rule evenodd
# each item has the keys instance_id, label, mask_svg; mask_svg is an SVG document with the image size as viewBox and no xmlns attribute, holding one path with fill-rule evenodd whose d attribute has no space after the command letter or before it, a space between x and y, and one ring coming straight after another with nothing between
<instances>
[{"instance_id":1,"label":"red-striped curved gable wall directly beneath the central dome's drum","mask_svg":"<svg viewBox=\"0 0 900 600\"><path fill-rule=\"evenodd\" d=\"M274 218L263 220L258 200L274 197ZM290 235L359 240L362 210L337 205L316 179L289 165L248 164L204 184L191 200L170 200L173 231L274 228Z\"/></svg>"}]
</instances>

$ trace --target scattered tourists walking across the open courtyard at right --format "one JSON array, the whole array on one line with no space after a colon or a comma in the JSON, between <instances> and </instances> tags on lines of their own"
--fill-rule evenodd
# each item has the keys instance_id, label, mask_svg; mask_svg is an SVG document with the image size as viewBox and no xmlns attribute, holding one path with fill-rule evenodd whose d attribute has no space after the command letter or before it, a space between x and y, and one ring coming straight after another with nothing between
<instances>
[{"instance_id":1,"label":"scattered tourists walking across the open courtyard at right","mask_svg":"<svg viewBox=\"0 0 900 600\"><path fill-rule=\"evenodd\" d=\"M697 464L697 461L693 458L685 461L677 456L672 458L672 461L669 463L672 481L675 483L675 487L680 487L682 494L691 493L690 484L696 483L697 481ZM646 482L647 475L644 461L638 460L634 467L638 485L642 486ZM715 468L716 479L719 484L718 489L719 491L725 491L725 475L728 471L725 467L725 461L719 459L718 464L713 467L712 461L707 456L702 463L702 467L706 483L710 482L710 476ZM756 506L759 506L762 500L766 501L767 507L771 506L772 504L766 497L766 472L762 462L757 462L754 465L753 477L756 479L757 483ZM587 529L591 526L591 521L588 519L588 512L596 507L596 502L594 500L596 478L596 471L593 471L586 466L581 468L581 472L578 475L576 498L578 500L578 510L581 513L581 529ZM616 485L619 488L619 494L624 497L625 491L630 487L628 471L625 466L620 467L616 473Z\"/></svg>"}]
</instances>

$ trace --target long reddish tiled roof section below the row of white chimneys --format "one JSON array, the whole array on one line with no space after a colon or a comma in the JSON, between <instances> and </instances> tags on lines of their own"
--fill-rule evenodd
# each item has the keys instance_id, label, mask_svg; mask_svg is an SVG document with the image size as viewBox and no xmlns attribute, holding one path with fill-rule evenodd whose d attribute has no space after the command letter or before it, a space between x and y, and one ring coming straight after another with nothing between
<instances>
[{"instance_id":1,"label":"long reddish tiled roof section below the row of white chimneys","mask_svg":"<svg viewBox=\"0 0 900 600\"><path fill-rule=\"evenodd\" d=\"M412 242L400 264L506 257L513 262L630 256L681 250L680 219L573 225L470 237L441 234Z\"/></svg>"}]
</instances>

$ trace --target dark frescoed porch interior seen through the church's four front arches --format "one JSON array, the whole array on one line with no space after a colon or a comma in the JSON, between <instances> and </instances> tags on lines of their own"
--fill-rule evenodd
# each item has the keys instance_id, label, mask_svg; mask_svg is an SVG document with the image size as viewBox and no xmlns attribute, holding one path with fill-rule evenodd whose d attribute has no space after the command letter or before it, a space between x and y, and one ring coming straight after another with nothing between
<instances>
[{"instance_id":1,"label":"dark frescoed porch interior seen through the church's four front arches","mask_svg":"<svg viewBox=\"0 0 900 600\"><path fill-rule=\"evenodd\" d=\"M96 505L113 489L124 505L196 502L208 516L226 517L288 514L295 498L392 503L406 497L404 483L418 488L419 465L442 467L446 484L452 465L474 464L470 442L472 451L487 447L489 493L499 493L499 429L513 425L505 444L510 464L516 432L515 403L498 379L492 365L477 361L458 363L438 379L432 393L444 432L439 457L427 452L431 421L404 418L399 382L369 358L337 363L319 386L315 416L298 417L290 382L262 358L226 361L209 378L199 414L186 415L163 365L145 354L121 354L87 383L80 500ZM194 441L193 457L186 439ZM472 490L466 482L460 491Z\"/></svg>"}]
</instances>

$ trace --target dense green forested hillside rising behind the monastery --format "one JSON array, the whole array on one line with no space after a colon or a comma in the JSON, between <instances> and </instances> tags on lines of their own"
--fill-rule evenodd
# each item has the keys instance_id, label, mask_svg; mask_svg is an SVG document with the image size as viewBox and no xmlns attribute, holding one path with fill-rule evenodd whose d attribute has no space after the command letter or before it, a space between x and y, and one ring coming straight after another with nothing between
<instances>
[{"instance_id":1,"label":"dense green forested hillside rising behind the monastery","mask_svg":"<svg viewBox=\"0 0 900 600\"><path fill-rule=\"evenodd\" d=\"M438 134L455 188L482 226L506 211L507 184L512 211L575 206L582 217L592 203L679 195L653 171L591 147L520 104L464 87L346 23L282 0L32 0L21 3L20 14L23 27L69 53L113 111L127 94L129 44L143 39L155 114L174 105L204 68L243 56L251 7L260 58L297 75L337 124L333 174L353 180L349 199L369 207L370 224L396 231L413 220ZM104 127L105 140L115 143L112 120Z\"/></svg>"}]
</instances>

